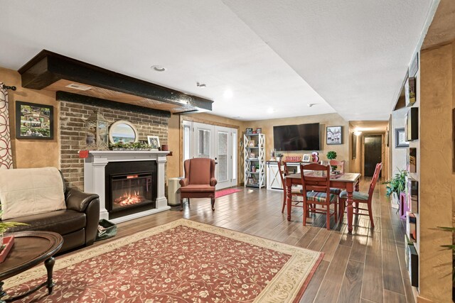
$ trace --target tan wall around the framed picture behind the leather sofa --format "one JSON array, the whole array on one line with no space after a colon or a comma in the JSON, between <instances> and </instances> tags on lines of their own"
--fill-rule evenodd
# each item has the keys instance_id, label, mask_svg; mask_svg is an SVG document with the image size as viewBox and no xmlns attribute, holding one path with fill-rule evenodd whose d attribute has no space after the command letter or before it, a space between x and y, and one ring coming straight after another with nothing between
<instances>
[{"instance_id":1,"label":"tan wall around the framed picture behind the leather sofa","mask_svg":"<svg viewBox=\"0 0 455 303\"><path fill-rule=\"evenodd\" d=\"M15 70L0 67L0 82L17 87L16 92L9 90L9 116L11 121L11 147L13 149L14 168L28 167L59 167L58 143L58 104L55 101L55 92L25 89L21 85L21 75ZM29 140L16 139L16 101L26 101L54 106L54 139Z\"/></svg>"}]
</instances>

